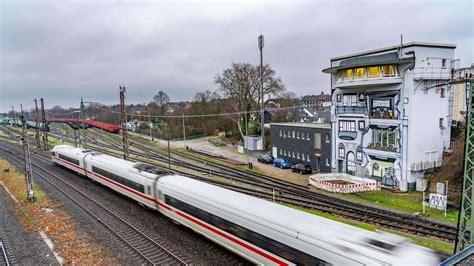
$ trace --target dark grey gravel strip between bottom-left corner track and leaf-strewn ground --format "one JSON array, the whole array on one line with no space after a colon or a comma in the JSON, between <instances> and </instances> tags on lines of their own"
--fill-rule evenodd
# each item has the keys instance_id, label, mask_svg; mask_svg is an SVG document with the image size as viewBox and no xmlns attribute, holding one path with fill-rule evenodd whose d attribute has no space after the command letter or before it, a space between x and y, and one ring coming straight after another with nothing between
<instances>
[{"instance_id":1,"label":"dark grey gravel strip between bottom-left corner track and leaf-strewn ground","mask_svg":"<svg viewBox=\"0 0 474 266\"><path fill-rule=\"evenodd\" d=\"M18 265L59 265L38 232L27 232L17 217L13 200L0 186L0 227Z\"/></svg>"}]
</instances>

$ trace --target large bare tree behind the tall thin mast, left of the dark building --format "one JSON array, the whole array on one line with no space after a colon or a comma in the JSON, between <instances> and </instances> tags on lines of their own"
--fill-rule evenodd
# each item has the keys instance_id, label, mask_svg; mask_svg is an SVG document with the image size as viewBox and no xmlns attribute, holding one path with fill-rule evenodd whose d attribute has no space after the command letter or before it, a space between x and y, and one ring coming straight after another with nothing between
<instances>
[{"instance_id":1,"label":"large bare tree behind the tall thin mast, left of the dark building","mask_svg":"<svg viewBox=\"0 0 474 266\"><path fill-rule=\"evenodd\" d=\"M260 68L249 63L233 63L232 66L222 73L218 73L214 82L219 85L219 91L230 101L230 107L233 112L250 111L260 107L261 99L261 80ZM263 92L268 98L277 95L285 90L285 85L279 77L276 77L275 71L270 65L263 68ZM232 120L238 125L240 135L244 137L242 122L243 115L236 114Z\"/></svg>"}]
</instances>

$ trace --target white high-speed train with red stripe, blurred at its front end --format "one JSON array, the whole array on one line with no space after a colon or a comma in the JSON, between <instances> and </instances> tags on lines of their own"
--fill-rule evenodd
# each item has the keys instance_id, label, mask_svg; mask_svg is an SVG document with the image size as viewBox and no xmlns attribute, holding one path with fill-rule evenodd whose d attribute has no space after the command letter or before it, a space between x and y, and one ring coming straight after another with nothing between
<instances>
[{"instance_id":1,"label":"white high-speed train with red stripe, blurred at its front end","mask_svg":"<svg viewBox=\"0 0 474 266\"><path fill-rule=\"evenodd\" d=\"M53 162L265 265L437 265L434 251L155 166L59 145Z\"/></svg>"}]
</instances>

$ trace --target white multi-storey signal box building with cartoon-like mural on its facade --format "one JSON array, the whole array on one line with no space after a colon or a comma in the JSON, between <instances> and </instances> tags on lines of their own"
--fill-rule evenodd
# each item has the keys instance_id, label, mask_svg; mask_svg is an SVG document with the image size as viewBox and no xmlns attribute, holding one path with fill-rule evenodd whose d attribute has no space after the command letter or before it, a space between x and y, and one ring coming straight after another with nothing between
<instances>
[{"instance_id":1,"label":"white multi-storey signal box building with cartoon-like mural on its facade","mask_svg":"<svg viewBox=\"0 0 474 266\"><path fill-rule=\"evenodd\" d=\"M402 191L450 148L453 44L413 42L331 58L332 171Z\"/></svg>"}]
</instances>

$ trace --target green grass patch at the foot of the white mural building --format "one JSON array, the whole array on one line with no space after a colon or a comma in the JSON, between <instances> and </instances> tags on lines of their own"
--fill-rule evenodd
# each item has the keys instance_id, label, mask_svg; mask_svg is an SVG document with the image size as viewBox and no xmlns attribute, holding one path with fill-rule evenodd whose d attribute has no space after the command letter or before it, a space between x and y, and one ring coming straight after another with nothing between
<instances>
[{"instance_id":1,"label":"green grass patch at the foot of the white mural building","mask_svg":"<svg viewBox=\"0 0 474 266\"><path fill-rule=\"evenodd\" d=\"M421 217L431 217L453 224L455 224L458 219L457 209L448 210L445 218L444 211L439 211L426 206L425 214L423 214L423 206L421 205L423 196L421 192L396 193L388 190L380 190L357 194L344 194L344 196L356 201L377 204L409 213L419 212ZM425 197L428 198L429 193L425 193Z\"/></svg>"}]
</instances>

